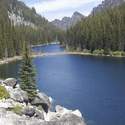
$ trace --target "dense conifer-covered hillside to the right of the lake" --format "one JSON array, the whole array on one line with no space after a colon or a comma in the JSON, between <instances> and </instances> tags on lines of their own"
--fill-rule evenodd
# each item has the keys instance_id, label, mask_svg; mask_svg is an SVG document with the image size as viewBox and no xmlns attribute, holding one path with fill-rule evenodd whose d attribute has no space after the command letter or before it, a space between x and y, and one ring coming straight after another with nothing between
<instances>
[{"instance_id":1,"label":"dense conifer-covered hillside to the right of the lake","mask_svg":"<svg viewBox=\"0 0 125 125\"><path fill-rule=\"evenodd\" d=\"M90 15L70 28L66 45L104 54L125 51L125 4Z\"/></svg>"}]
</instances>

